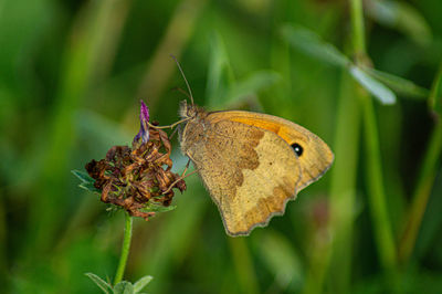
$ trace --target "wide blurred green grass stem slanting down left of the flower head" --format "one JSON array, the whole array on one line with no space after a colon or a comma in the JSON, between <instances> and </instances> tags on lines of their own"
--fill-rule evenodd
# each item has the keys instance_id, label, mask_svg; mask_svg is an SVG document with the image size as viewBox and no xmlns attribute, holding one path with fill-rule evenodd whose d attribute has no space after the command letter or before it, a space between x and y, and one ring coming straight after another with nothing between
<instances>
[{"instance_id":1,"label":"wide blurred green grass stem slanting down left of the flower head","mask_svg":"<svg viewBox=\"0 0 442 294\"><path fill-rule=\"evenodd\" d=\"M63 207L60 191L66 189L69 157L76 138L74 113L82 104L88 88L98 82L96 80L107 74L103 69L99 71L97 69L110 67L107 64L113 62L112 52L120 33L120 30L115 29L125 22L127 3L127 0L87 3L78 12L72 28L70 42L63 54L56 103L49 117L46 146L44 155L41 155L44 158L44 166L39 177L41 187L38 191L39 201L31 210L32 225L29 242L33 245L29 248L38 252L51 246L60 229L59 223L52 220L63 219L62 216L67 211L67 207ZM110 22L114 24L110 25ZM114 31L109 33L109 29ZM108 54L102 53L106 51L105 49ZM56 178L54 175L63 177ZM48 211L48 207L54 209Z\"/></svg>"}]
</instances>

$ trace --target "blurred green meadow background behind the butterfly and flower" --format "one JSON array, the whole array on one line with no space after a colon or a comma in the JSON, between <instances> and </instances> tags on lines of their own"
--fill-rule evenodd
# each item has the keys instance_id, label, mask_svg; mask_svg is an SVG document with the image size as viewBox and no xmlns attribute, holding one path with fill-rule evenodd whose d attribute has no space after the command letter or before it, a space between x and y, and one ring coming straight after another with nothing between
<instances>
[{"instance_id":1,"label":"blurred green meadow background behind the butterfly and flower","mask_svg":"<svg viewBox=\"0 0 442 294\"><path fill-rule=\"evenodd\" d=\"M131 141L140 98L177 120L173 54L199 105L294 120L335 164L249 238L227 237L188 178L176 210L135 220L126 280L152 275L149 293L442 293L442 1L364 1L355 31L358 3L1 0L1 292L98 293L84 273L113 279L124 213L71 170ZM303 30L414 84L401 93L390 76L398 99L383 105Z\"/></svg>"}]
</instances>

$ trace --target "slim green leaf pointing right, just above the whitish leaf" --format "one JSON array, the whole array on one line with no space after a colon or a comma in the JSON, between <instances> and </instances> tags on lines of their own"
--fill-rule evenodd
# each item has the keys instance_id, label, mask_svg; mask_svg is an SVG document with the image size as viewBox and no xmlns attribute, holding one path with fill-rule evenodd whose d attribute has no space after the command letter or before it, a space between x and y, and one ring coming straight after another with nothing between
<instances>
[{"instance_id":1,"label":"slim green leaf pointing right, just above the whitish leaf","mask_svg":"<svg viewBox=\"0 0 442 294\"><path fill-rule=\"evenodd\" d=\"M429 91L424 87L418 86L413 82L402 78L400 76L381 72L375 69L360 67L365 73L369 74L371 77L385 83L396 93L403 96L413 98L427 98L429 96Z\"/></svg>"}]
</instances>

